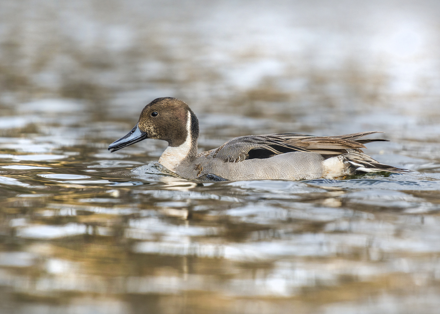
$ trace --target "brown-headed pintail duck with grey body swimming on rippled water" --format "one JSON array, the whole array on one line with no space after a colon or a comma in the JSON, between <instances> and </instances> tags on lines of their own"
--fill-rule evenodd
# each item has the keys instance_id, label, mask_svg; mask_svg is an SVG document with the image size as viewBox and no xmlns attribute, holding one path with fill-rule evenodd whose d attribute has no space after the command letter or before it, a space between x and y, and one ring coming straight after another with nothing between
<instances>
[{"instance_id":1,"label":"brown-headed pintail duck with grey body swimming on rippled water","mask_svg":"<svg viewBox=\"0 0 440 314\"><path fill-rule=\"evenodd\" d=\"M403 173L363 153L364 144L388 141L360 139L379 131L337 136L296 133L245 135L198 153L198 119L180 99L161 97L145 106L127 135L108 146L111 152L143 139L161 139L168 147L159 163L185 179L306 180L344 179L371 172Z\"/></svg>"}]
</instances>

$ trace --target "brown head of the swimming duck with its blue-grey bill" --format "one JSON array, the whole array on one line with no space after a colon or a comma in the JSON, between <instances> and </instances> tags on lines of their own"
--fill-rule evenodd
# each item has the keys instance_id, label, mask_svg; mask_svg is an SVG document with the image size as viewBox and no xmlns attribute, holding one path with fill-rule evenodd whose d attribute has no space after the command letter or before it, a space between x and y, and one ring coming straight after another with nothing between
<instances>
[{"instance_id":1,"label":"brown head of the swimming duck with its blue-grey bill","mask_svg":"<svg viewBox=\"0 0 440 314\"><path fill-rule=\"evenodd\" d=\"M143 139L162 139L178 147L191 141L197 149L198 120L188 105L177 98L161 97L145 106L132 130L108 147L120 150Z\"/></svg>"}]
</instances>

